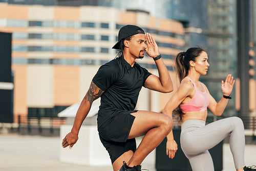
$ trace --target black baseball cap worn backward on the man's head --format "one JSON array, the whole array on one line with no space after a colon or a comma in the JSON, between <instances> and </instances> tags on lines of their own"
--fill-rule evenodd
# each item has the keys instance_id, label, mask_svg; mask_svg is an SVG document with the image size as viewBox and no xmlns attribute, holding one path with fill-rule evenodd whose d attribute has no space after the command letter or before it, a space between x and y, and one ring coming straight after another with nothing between
<instances>
[{"instance_id":1,"label":"black baseball cap worn backward on the man's head","mask_svg":"<svg viewBox=\"0 0 256 171\"><path fill-rule=\"evenodd\" d=\"M133 36L136 34L145 34L145 32L138 26L134 26L134 25L123 26L119 30L119 33L118 33L118 42L112 48L119 50L120 49L120 41L122 39L125 39L127 37L130 37L130 36Z\"/></svg>"}]
</instances>

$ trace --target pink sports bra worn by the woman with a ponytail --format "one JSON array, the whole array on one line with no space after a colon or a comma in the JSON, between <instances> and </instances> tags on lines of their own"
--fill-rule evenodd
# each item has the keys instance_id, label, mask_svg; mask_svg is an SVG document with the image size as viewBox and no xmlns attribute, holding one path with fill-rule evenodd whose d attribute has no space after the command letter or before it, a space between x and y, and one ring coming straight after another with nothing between
<instances>
[{"instance_id":1,"label":"pink sports bra worn by the woman with a ponytail","mask_svg":"<svg viewBox=\"0 0 256 171\"><path fill-rule=\"evenodd\" d=\"M189 77L188 78L194 85L194 87L196 88L196 93L193 96L193 98L185 103L185 104L180 104L180 108L182 110L182 112L193 112L193 111L206 111L207 110L207 106L210 103L210 99L209 96L204 88L204 92L201 92L194 81L192 81ZM201 83L202 84L202 83ZM204 87L204 86L203 86Z\"/></svg>"}]
</instances>

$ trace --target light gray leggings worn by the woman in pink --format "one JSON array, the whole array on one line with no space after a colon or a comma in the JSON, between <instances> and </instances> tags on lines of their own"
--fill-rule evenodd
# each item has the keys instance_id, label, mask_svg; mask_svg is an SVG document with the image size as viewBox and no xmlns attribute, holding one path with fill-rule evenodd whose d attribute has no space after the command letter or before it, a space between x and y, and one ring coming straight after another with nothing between
<instances>
[{"instance_id":1,"label":"light gray leggings worn by the woman in pink","mask_svg":"<svg viewBox=\"0 0 256 171\"><path fill-rule=\"evenodd\" d=\"M205 121L189 119L181 125L181 149L188 158L192 170L214 171L208 152L230 134L229 146L236 169L245 166L244 125L239 117L228 117L205 126Z\"/></svg>"}]
</instances>

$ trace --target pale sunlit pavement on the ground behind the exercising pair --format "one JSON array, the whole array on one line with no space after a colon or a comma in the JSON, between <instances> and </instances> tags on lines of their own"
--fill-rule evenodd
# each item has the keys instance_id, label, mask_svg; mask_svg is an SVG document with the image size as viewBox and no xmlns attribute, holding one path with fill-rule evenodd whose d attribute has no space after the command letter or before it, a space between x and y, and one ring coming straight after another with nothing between
<instances>
[{"instance_id":1,"label":"pale sunlit pavement on the ground behind the exercising pair","mask_svg":"<svg viewBox=\"0 0 256 171\"><path fill-rule=\"evenodd\" d=\"M59 161L58 137L0 134L1 171L112 171L111 166L95 167L62 163ZM256 145L246 144L245 164L256 164ZM142 165L142 168L156 171L155 163ZM229 144L223 145L223 171L234 169Z\"/></svg>"}]
</instances>

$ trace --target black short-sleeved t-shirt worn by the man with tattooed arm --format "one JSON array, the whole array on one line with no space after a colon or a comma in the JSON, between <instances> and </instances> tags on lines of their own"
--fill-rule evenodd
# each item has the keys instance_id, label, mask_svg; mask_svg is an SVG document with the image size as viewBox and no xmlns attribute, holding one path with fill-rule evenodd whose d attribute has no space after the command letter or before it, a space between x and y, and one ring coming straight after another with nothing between
<instances>
[{"instance_id":1,"label":"black short-sleeved t-shirt worn by the man with tattooed arm","mask_svg":"<svg viewBox=\"0 0 256 171\"><path fill-rule=\"evenodd\" d=\"M104 90L98 112L98 126L117 111L134 110L139 92L150 75L147 69L136 62L132 67L122 56L102 65L92 80Z\"/></svg>"}]
</instances>

